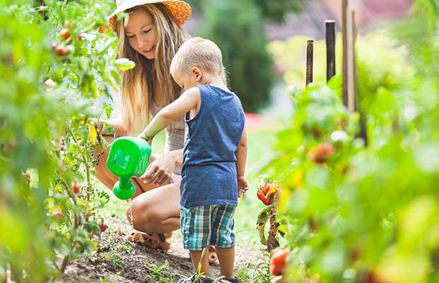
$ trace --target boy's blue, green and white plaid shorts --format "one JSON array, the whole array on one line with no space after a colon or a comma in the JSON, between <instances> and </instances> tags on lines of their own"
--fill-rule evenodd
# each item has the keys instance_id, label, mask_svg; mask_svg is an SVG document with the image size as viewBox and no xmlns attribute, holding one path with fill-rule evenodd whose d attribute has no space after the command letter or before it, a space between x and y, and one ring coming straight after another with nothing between
<instances>
[{"instance_id":1,"label":"boy's blue, green and white plaid shorts","mask_svg":"<svg viewBox=\"0 0 439 283\"><path fill-rule=\"evenodd\" d=\"M187 250L203 250L235 246L235 207L227 204L180 207L183 246Z\"/></svg>"}]
</instances>

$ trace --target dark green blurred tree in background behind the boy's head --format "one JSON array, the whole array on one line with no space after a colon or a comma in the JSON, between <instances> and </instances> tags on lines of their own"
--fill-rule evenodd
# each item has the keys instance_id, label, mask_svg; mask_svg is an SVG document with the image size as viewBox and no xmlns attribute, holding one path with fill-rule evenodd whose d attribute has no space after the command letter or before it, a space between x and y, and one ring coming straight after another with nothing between
<instances>
[{"instance_id":1,"label":"dark green blurred tree in background behind the boy's head","mask_svg":"<svg viewBox=\"0 0 439 283\"><path fill-rule=\"evenodd\" d=\"M213 1L204 16L200 35L220 47L230 89L246 112L256 112L269 101L274 82L259 9L252 0Z\"/></svg>"}]
</instances>

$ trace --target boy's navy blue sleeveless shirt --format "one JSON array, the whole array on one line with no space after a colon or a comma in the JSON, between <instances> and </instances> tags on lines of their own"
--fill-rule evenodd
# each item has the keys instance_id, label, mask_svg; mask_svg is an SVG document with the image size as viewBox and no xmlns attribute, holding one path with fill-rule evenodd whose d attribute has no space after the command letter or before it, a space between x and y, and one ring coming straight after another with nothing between
<instances>
[{"instance_id":1,"label":"boy's navy blue sleeveless shirt","mask_svg":"<svg viewBox=\"0 0 439 283\"><path fill-rule=\"evenodd\" d=\"M236 155L244 110L238 96L216 86L200 85L197 116L185 115L180 205L238 205Z\"/></svg>"}]
</instances>

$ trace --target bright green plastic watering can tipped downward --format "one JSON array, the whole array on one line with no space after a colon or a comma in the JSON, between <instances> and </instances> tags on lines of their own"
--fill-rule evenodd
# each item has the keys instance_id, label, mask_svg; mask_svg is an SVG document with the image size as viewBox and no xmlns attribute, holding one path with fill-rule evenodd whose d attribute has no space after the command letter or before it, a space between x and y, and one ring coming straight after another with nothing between
<instances>
[{"instance_id":1,"label":"bright green plastic watering can tipped downward","mask_svg":"<svg viewBox=\"0 0 439 283\"><path fill-rule=\"evenodd\" d=\"M145 171L151 157L151 146L139 137L119 137L113 141L107 166L111 173L119 177L113 192L121 200L133 197L136 187L129 180L139 177Z\"/></svg>"}]
</instances>

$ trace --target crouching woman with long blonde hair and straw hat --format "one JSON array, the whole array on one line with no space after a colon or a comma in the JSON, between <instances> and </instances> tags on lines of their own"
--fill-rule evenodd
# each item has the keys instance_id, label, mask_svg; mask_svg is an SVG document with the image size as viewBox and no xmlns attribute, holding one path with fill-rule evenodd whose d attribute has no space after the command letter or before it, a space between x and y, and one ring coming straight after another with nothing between
<instances>
[{"instance_id":1,"label":"crouching woman with long blonde hair and straw hat","mask_svg":"<svg viewBox=\"0 0 439 283\"><path fill-rule=\"evenodd\" d=\"M117 0L110 24L119 37L119 57L129 58L136 67L122 72L122 117L106 121L117 135L137 134L151 115L180 96L180 87L170 76L170 62L187 37L181 25L187 21L191 8L185 1ZM116 14L129 14L117 21ZM168 249L165 241L172 231L180 229L180 166L185 134L183 117L166 130L165 154L151 156L145 178L134 179L136 194L129 203L127 218L134 229L129 240L141 241L150 248ZM109 141L111 141L109 139ZM108 171L107 152L96 166L96 177L107 187L117 181ZM160 187L158 190L153 190Z\"/></svg>"}]
</instances>

